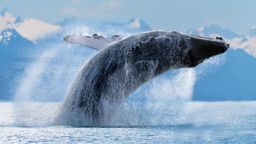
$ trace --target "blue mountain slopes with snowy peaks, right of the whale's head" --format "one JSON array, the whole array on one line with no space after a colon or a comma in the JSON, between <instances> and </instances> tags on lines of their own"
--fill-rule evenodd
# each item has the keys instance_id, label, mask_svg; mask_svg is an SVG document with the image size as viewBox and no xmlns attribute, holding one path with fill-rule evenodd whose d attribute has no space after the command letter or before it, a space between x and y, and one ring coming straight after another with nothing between
<instances>
[{"instance_id":1,"label":"blue mountain slopes with snowy peaks, right of the whale's head","mask_svg":"<svg viewBox=\"0 0 256 144\"><path fill-rule=\"evenodd\" d=\"M218 25L190 29L187 33L209 38L222 37L230 44L225 62L206 69L194 86L194 100L256 100L256 27L249 34L237 33ZM200 68L200 67L199 67Z\"/></svg>"}]
</instances>

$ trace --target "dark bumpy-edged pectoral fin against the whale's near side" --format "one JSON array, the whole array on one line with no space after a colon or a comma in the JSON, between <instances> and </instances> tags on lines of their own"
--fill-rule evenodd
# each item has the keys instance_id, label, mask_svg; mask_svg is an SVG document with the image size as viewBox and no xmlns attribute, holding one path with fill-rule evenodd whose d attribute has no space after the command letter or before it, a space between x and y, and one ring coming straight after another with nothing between
<instances>
[{"instance_id":1,"label":"dark bumpy-edged pectoral fin against the whale's near side","mask_svg":"<svg viewBox=\"0 0 256 144\"><path fill-rule=\"evenodd\" d=\"M149 41L139 42L135 47L127 51L127 61L134 63L136 61L150 61L158 58L157 49L154 47L156 38L150 38Z\"/></svg>"}]
</instances>

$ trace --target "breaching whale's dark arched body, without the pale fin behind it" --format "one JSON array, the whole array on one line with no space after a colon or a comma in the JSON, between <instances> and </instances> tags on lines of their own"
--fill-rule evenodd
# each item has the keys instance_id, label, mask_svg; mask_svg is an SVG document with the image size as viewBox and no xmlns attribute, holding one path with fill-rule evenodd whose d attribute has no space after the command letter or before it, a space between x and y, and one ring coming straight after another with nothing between
<instances>
[{"instance_id":1,"label":"breaching whale's dark arched body, without the pale fin behind it","mask_svg":"<svg viewBox=\"0 0 256 144\"><path fill-rule=\"evenodd\" d=\"M62 105L65 125L107 125L137 87L171 69L194 67L228 50L222 38L149 31L115 42L76 74Z\"/></svg>"}]
</instances>

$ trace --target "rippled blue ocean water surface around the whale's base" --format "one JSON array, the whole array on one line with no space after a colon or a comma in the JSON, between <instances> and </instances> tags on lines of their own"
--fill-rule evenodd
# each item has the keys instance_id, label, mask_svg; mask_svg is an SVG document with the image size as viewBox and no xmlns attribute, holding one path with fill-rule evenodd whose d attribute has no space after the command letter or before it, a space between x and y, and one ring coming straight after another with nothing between
<instances>
[{"instance_id":1,"label":"rippled blue ocean water surface around the whale's base","mask_svg":"<svg viewBox=\"0 0 256 144\"><path fill-rule=\"evenodd\" d=\"M256 144L256 101L185 102L175 114L159 110L134 117L140 125L114 121L106 127L53 126L58 107L54 102L0 102L0 143Z\"/></svg>"}]
</instances>

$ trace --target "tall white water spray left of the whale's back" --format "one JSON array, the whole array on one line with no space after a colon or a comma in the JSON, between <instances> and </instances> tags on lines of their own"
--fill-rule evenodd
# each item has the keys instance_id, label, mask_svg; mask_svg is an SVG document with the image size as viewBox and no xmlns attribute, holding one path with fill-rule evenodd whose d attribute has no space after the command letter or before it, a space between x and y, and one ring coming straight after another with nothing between
<instances>
[{"instance_id":1,"label":"tall white water spray left of the whale's back","mask_svg":"<svg viewBox=\"0 0 256 144\"><path fill-rule=\"evenodd\" d=\"M59 104L49 102L63 99L74 74L91 55L90 50L67 43L50 43L43 48L18 80L14 95L16 126L50 125Z\"/></svg>"}]
</instances>

